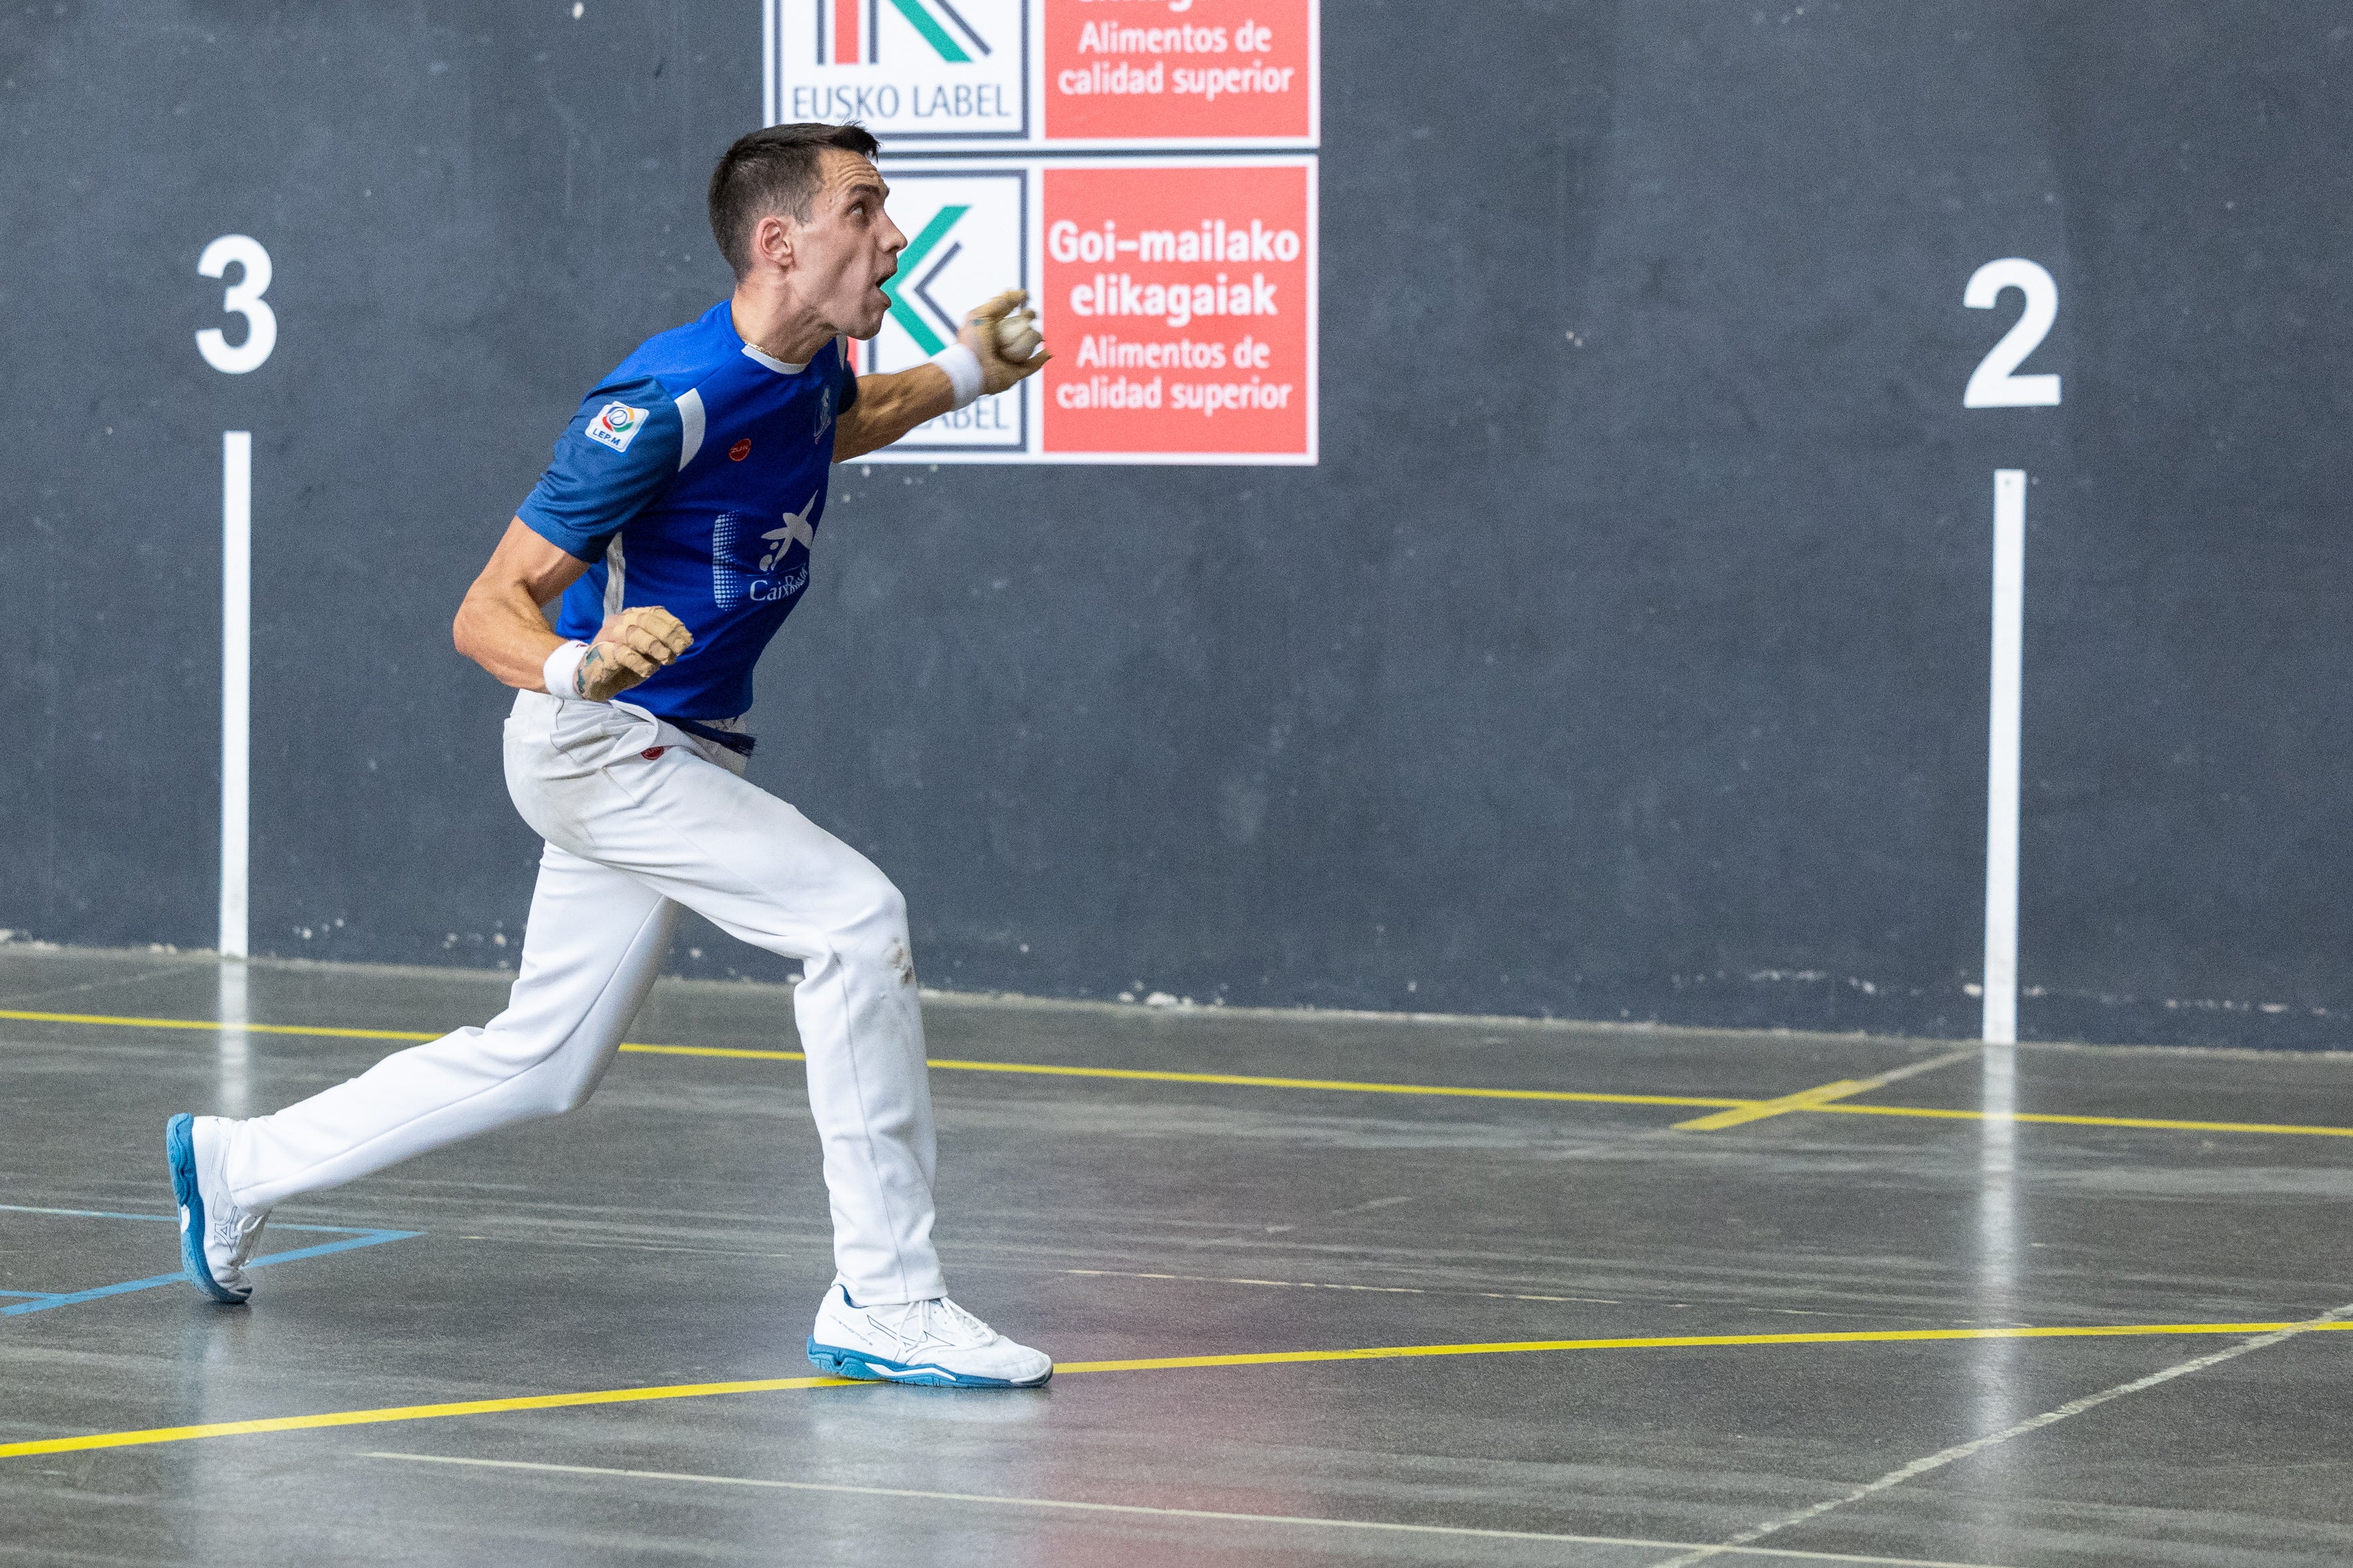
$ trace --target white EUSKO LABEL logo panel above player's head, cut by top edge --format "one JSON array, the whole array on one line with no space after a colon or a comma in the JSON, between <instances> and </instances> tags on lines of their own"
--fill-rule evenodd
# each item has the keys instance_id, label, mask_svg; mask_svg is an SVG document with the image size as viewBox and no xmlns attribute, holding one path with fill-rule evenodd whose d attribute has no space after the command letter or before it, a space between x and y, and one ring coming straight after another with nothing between
<instances>
[{"instance_id":1,"label":"white EUSKO LABEL logo panel above player's head, cut by top edge","mask_svg":"<svg viewBox=\"0 0 2353 1568\"><path fill-rule=\"evenodd\" d=\"M885 146L1028 136L1024 0L769 0L774 118Z\"/></svg>"}]
</instances>

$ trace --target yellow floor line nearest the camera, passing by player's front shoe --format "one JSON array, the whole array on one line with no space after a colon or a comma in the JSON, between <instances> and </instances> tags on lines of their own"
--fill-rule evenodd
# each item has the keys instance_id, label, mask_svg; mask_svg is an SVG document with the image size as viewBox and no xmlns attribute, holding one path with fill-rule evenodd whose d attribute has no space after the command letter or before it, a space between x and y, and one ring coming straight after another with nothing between
<instances>
[{"instance_id":1,"label":"yellow floor line nearest the camera, passing by player's front shoe","mask_svg":"<svg viewBox=\"0 0 2353 1568\"><path fill-rule=\"evenodd\" d=\"M1551 1349L1725 1349L1753 1345L1913 1345L1934 1340L2113 1340L2158 1335L2257 1335L2282 1328L2353 1331L2353 1321L2285 1324L2087 1324L2059 1328L1861 1328L1828 1333L1687 1333L1619 1340L1497 1340L1482 1345L1379 1345L1367 1349L1273 1349L1228 1356L1146 1356L1132 1361L1071 1361L1056 1366L1056 1378L1085 1373L1172 1373L1226 1366L1297 1366L1306 1361L1407 1361L1424 1356L1513 1356ZM508 1415L515 1410L562 1410L574 1406L642 1403L654 1399L711 1399L713 1394L772 1394L779 1389L856 1387L847 1378L755 1378L746 1382L673 1382L633 1389L593 1389L586 1394L522 1394L515 1399L464 1399L433 1406L386 1406L376 1410L325 1410L320 1415L268 1415L261 1420L224 1420L195 1427L146 1427L139 1432L89 1432L49 1436L26 1443L0 1443L0 1460L38 1453L80 1453L87 1448L146 1448L153 1443L193 1443L212 1436L252 1436L259 1432L313 1432L320 1427L372 1427L407 1420L442 1420L452 1415Z\"/></svg>"}]
</instances>

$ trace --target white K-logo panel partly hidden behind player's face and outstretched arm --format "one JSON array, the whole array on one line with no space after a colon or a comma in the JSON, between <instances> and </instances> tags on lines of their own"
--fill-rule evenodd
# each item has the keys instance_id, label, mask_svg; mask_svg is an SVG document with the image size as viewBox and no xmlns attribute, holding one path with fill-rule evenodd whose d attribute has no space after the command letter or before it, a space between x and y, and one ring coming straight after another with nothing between
<instances>
[{"instance_id":1,"label":"white K-logo panel partly hidden behind player's face and outstretched arm","mask_svg":"<svg viewBox=\"0 0 2353 1568\"><path fill-rule=\"evenodd\" d=\"M1028 287L1028 200L1024 169L894 169L889 216L906 230L899 270L882 292L882 331L856 348L861 374L922 364L955 341L974 306ZM969 409L918 425L894 451L1024 451L1028 383L981 397Z\"/></svg>"}]
</instances>

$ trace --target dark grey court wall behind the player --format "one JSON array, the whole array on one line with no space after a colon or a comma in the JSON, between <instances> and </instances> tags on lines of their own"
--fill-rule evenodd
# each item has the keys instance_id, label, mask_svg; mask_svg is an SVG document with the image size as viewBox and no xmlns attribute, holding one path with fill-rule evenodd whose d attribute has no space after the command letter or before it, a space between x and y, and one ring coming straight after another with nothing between
<instances>
[{"instance_id":1,"label":"dark grey court wall behind the player","mask_svg":"<svg viewBox=\"0 0 2353 1568\"><path fill-rule=\"evenodd\" d=\"M1974 1034L2017 465L2021 1030L2353 1044L2348 61L2334 0L1337 0L1322 465L842 473L755 778L941 985ZM755 5L61 5L0 75L0 924L209 943L252 428L254 947L511 961L447 616L725 289ZM2066 402L1965 411L2012 254Z\"/></svg>"}]
</instances>

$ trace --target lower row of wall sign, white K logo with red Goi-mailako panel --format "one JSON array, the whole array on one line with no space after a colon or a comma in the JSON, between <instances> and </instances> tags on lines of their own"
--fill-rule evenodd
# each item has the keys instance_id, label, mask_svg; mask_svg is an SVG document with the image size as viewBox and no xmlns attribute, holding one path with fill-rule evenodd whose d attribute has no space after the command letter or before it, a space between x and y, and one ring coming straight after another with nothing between
<instances>
[{"instance_id":1,"label":"lower row of wall sign, white K logo with red Goi-mailako panel","mask_svg":"<svg viewBox=\"0 0 2353 1568\"><path fill-rule=\"evenodd\" d=\"M1315 461L1313 158L887 160L885 176L908 249L859 369L920 364L1007 287L1031 289L1054 362L861 463Z\"/></svg>"}]
</instances>

